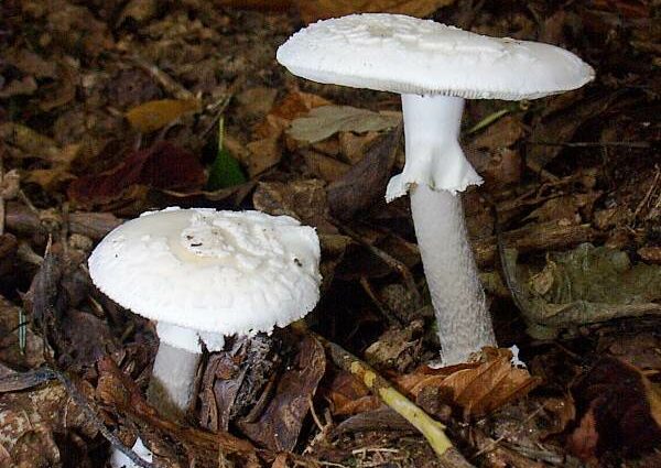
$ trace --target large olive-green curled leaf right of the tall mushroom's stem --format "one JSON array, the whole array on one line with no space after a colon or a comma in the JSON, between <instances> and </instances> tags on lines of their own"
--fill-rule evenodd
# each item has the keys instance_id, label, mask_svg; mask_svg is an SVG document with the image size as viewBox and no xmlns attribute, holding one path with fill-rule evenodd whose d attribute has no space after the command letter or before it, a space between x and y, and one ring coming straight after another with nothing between
<instances>
[{"instance_id":1,"label":"large olive-green curled leaf right of the tall mushroom's stem","mask_svg":"<svg viewBox=\"0 0 661 468\"><path fill-rule=\"evenodd\" d=\"M613 318L661 314L661 268L631 264L626 252L583 243L568 252L550 253L546 265L525 272L518 252L505 249L506 268L514 272L518 300L528 333L556 336L562 328Z\"/></svg>"}]
</instances>

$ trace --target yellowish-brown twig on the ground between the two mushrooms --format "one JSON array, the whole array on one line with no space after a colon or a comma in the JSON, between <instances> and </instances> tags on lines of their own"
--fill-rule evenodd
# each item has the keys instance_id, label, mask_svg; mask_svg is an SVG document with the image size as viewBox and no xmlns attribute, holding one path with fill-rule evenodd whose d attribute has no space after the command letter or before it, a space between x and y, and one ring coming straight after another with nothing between
<instances>
[{"instance_id":1,"label":"yellowish-brown twig on the ground between the two mushrooms","mask_svg":"<svg viewBox=\"0 0 661 468\"><path fill-rule=\"evenodd\" d=\"M427 439L431 447L438 457L441 466L447 468L469 468L473 467L464 456L453 446L445 434L445 426L433 420L429 414L421 410L415 403L397 391L390 382L377 373L369 364L351 355L323 336L311 331L303 320L296 322L293 326L299 333L310 333L326 349L333 362L340 369L350 372L360 379L360 381L388 406L403 416L413 427Z\"/></svg>"}]
</instances>

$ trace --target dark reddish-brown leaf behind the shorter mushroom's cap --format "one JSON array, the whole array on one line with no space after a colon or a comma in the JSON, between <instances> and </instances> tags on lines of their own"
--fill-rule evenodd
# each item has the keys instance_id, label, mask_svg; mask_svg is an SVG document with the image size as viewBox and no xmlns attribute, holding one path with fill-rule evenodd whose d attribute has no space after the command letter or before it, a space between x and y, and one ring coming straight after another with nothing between
<instances>
[{"instance_id":1,"label":"dark reddish-brown leaf behind the shorter mushroom's cap","mask_svg":"<svg viewBox=\"0 0 661 468\"><path fill-rule=\"evenodd\" d=\"M195 155L162 141L129 154L110 171L77 178L69 184L67 194L77 205L95 206L119 199L136 184L161 189L195 189L204 179L202 164Z\"/></svg>"}]
</instances>

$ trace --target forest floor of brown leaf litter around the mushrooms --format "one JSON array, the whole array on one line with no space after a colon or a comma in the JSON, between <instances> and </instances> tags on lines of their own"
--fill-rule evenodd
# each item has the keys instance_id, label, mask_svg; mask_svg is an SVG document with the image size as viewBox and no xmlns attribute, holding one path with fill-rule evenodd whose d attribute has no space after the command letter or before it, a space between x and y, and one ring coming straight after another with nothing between
<instances>
[{"instance_id":1,"label":"forest floor of brown leaf litter around the mushrooms","mask_svg":"<svg viewBox=\"0 0 661 468\"><path fill-rule=\"evenodd\" d=\"M557 97L467 102L485 184L464 208L502 347L475 362L426 366L438 344L408 197L383 199L404 161L398 96L275 62L306 23L353 11L552 43L596 70ZM642 0L2 1L0 466L99 467L138 435L165 467L440 466L288 329L208 356L187 422L159 416L144 400L154 328L95 290L86 260L169 206L314 226L308 325L442 421L472 464L661 466L660 44L661 6Z\"/></svg>"}]
</instances>

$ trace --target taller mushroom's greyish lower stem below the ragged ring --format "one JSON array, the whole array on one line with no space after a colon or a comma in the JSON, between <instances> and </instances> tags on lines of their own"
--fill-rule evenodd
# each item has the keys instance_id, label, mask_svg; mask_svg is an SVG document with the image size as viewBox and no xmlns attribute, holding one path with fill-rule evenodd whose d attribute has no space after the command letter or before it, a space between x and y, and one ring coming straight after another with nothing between
<instances>
[{"instance_id":1,"label":"taller mushroom's greyish lower stem below the ragged ring","mask_svg":"<svg viewBox=\"0 0 661 468\"><path fill-rule=\"evenodd\" d=\"M444 366L496 346L491 317L468 243L462 199L426 185L411 189L411 210L432 296Z\"/></svg>"}]
</instances>

